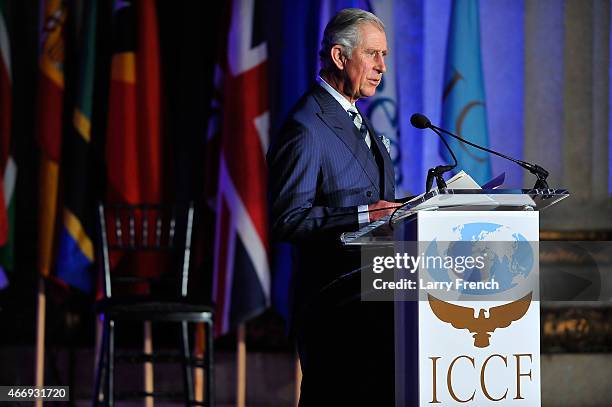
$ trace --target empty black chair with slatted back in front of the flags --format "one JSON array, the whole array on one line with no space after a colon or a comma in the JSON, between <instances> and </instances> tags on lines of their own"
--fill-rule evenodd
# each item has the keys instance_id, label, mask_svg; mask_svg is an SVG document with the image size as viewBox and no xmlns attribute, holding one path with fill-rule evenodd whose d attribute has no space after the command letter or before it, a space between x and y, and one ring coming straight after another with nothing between
<instances>
[{"instance_id":1,"label":"empty black chair with slatted back in front of the flags","mask_svg":"<svg viewBox=\"0 0 612 407\"><path fill-rule=\"evenodd\" d=\"M104 298L98 301L97 311L103 318L104 328L97 362L95 406L113 406L115 400L145 397L179 398L185 405L213 405L213 309L191 301L188 296L193 218L193 203L98 204L98 258ZM157 253L153 256L159 256L160 261L143 264L138 260L151 256L143 253ZM128 270L118 267L111 272L111 263L128 260L133 265ZM180 351L115 352L115 331L118 323L124 321L180 323ZM197 322L205 326L203 357L194 356L189 343L189 323ZM117 392L116 362L180 363L182 392ZM195 401L194 394L195 368L204 369L205 374L204 400L199 402Z\"/></svg>"}]
</instances>

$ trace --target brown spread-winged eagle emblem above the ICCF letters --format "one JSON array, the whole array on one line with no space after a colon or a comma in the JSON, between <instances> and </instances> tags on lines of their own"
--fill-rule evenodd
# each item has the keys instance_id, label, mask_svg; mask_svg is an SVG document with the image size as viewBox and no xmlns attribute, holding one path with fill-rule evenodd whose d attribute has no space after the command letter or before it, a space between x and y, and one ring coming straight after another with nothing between
<instances>
[{"instance_id":1,"label":"brown spread-winged eagle emblem above the ICCF letters","mask_svg":"<svg viewBox=\"0 0 612 407\"><path fill-rule=\"evenodd\" d=\"M521 319L529 309L532 293L508 304L489 308L489 316L485 317L484 309L474 318L474 308L450 304L427 294L429 306L440 321L451 324L456 329L467 329L474 333L474 346L486 348L489 346L490 333L497 328L506 328L512 322Z\"/></svg>"}]
</instances>

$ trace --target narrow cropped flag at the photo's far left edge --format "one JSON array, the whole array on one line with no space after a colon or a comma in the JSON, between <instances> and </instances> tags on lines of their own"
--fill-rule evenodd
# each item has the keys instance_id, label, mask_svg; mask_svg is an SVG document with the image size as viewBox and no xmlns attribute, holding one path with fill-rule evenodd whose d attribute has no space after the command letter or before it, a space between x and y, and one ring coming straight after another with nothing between
<instances>
[{"instance_id":1,"label":"narrow cropped flag at the photo's far left edge","mask_svg":"<svg viewBox=\"0 0 612 407\"><path fill-rule=\"evenodd\" d=\"M6 25L6 1L0 0L0 175L2 191L0 194L4 206L0 206L0 226L5 242L0 248L0 289L8 285L6 271L13 270L13 247L15 229L15 180L17 166L11 155L11 119L12 119L12 67L11 47Z\"/></svg>"}]
</instances>

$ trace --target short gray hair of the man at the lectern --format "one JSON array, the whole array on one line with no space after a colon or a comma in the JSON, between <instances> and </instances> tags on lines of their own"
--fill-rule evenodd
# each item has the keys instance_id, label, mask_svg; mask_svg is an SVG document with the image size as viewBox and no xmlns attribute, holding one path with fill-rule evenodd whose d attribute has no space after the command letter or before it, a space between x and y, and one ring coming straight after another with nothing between
<instances>
[{"instance_id":1,"label":"short gray hair of the man at the lectern","mask_svg":"<svg viewBox=\"0 0 612 407\"><path fill-rule=\"evenodd\" d=\"M333 66L331 59L331 49L334 45L341 45L343 55L350 58L360 38L359 27L362 24L370 23L385 31L385 25L369 11L358 8L345 8L340 10L338 14L332 17L325 27L323 40L321 40L321 50L319 58L321 59L321 70L329 70Z\"/></svg>"}]
</instances>

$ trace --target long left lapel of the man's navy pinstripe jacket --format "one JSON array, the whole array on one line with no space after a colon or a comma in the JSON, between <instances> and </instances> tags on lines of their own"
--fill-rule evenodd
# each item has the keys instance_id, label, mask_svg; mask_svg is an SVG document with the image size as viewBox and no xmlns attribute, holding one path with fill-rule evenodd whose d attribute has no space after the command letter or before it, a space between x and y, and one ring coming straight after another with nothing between
<instances>
[{"instance_id":1,"label":"long left lapel of the man's navy pinstripe jacket","mask_svg":"<svg viewBox=\"0 0 612 407\"><path fill-rule=\"evenodd\" d=\"M319 106L321 106L322 112L317 113L317 115L348 147L372 182L373 187L379 191L380 188L377 182L377 175L379 173L378 166L368 146L361 139L361 134L351 121L348 113L346 113L342 109L342 106L340 106L340 104L319 85L315 85L313 96L319 103Z\"/></svg>"}]
</instances>

